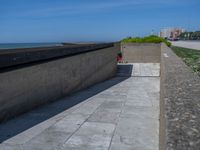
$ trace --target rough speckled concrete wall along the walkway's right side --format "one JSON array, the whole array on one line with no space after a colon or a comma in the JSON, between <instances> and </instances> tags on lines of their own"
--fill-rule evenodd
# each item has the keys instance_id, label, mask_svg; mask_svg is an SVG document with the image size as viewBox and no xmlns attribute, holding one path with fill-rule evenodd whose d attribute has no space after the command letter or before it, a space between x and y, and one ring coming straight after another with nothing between
<instances>
[{"instance_id":1,"label":"rough speckled concrete wall along the walkway's right side","mask_svg":"<svg viewBox=\"0 0 200 150\"><path fill-rule=\"evenodd\" d=\"M200 77L161 45L160 150L200 148Z\"/></svg>"}]
</instances>

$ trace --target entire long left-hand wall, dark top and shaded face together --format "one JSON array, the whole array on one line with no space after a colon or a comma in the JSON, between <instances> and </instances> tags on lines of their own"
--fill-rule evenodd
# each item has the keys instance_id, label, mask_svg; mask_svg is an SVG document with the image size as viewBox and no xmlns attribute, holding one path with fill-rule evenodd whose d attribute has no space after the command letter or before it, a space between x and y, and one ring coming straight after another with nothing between
<instances>
[{"instance_id":1,"label":"entire long left-hand wall, dark top and shaded face together","mask_svg":"<svg viewBox=\"0 0 200 150\"><path fill-rule=\"evenodd\" d=\"M114 76L119 49L100 44L1 52L0 121Z\"/></svg>"}]
</instances>

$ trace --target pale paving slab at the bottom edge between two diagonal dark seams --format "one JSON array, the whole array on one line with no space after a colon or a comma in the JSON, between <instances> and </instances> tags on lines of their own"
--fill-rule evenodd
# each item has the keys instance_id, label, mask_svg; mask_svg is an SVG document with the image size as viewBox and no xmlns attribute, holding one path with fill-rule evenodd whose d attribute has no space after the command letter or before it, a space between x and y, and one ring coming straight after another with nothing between
<instances>
[{"instance_id":1,"label":"pale paving slab at the bottom edge between two diagonal dark seams","mask_svg":"<svg viewBox=\"0 0 200 150\"><path fill-rule=\"evenodd\" d=\"M63 144L61 149L107 150L114 129L114 124L86 122L65 144Z\"/></svg>"}]
</instances>

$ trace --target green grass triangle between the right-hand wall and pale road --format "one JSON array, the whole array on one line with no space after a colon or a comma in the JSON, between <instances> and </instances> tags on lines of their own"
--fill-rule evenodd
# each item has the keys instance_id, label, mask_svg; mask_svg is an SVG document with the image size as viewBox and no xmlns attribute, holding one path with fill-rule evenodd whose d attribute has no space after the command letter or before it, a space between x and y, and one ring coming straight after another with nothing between
<instances>
[{"instance_id":1,"label":"green grass triangle between the right-hand wall and pale road","mask_svg":"<svg viewBox=\"0 0 200 150\"><path fill-rule=\"evenodd\" d=\"M175 46L172 46L171 48L177 56L181 57L183 61L200 76L200 50Z\"/></svg>"}]
</instances>

